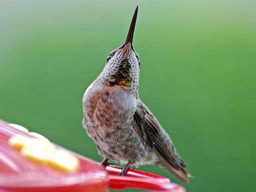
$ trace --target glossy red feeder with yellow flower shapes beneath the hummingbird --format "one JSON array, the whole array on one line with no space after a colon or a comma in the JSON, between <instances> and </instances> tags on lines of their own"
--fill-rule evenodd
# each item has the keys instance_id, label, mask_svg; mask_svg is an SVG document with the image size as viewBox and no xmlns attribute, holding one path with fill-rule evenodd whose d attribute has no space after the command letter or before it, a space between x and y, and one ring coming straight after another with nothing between
<instances>
[{"instance_id":1,"label":"glossy red feeder with yellow flower shapes beneath the hummingbird","mask_svg":"<svg viewBox=\"0 0 256 192\"><path fill-rule=\"evenodd\" d=\"M185 188L148 172L97 162L0 120L0 191L87 191L141 189L185 192Z\"/></svg>"}]
</instances>

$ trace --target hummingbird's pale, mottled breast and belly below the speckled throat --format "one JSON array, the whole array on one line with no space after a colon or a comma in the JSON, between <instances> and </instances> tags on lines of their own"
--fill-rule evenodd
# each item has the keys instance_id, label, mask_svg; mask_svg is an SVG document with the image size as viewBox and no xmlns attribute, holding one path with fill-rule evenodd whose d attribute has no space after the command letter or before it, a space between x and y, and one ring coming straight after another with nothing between
<instances>
[{"instance_id":1,"label":"hummingbird's pale, mottled breast and belly below the speckled throat","mask_svg":"<svg viewBox=\"0 0 256 192\"><path fill-rule=\"evenodd\" d=\"M86 91L83 98L83 126L105 158L133 165L151 164L156 161L138 138L131 124L137 100L117 85L103 91ZM89 88L88 88L89 89Z\"/></svg>"}]
</instances>

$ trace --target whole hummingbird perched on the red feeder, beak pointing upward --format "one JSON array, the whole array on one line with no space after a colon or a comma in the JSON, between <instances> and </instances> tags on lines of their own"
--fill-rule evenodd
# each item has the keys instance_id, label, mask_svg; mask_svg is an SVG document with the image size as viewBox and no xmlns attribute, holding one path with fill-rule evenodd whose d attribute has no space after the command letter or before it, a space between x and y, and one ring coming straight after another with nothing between
<instances>
[{"instance_id":1,"label":"whole hummingbird perched on the red feeder, beak pointing upward","mask_svg":"<svg viewBox=\"0 0 256 192\"><path fill-rule=\"evenodd\" d=\"M137 14L138 6L125 43L109 53L102 72L83 95L82 125L104 157L102 165L109 160L125 164L120 176L129 168L154 164L188 183L186 164L139 98L141 61L132 45Z\"/></svg>"}]
</instances>

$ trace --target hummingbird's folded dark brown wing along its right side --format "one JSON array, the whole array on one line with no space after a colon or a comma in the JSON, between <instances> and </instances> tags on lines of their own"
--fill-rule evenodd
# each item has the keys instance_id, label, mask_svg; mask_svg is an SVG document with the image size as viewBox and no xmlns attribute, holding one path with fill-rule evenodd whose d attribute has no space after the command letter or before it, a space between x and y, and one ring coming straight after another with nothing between
<instances>
[{"instance_id":1,"label":"hummingbird's folded dark brown wing along its right side","mask_svg":"<svg viewBox=\"0 0 256 192\"><path fill-rule=\"evenodd\" d=\"M176 153L168 134L141 101L133 115L132 125L138 137L155 152L162 165L181 181L188 183L190 174L185 170L186 164Z\"/></svg>"}]
</instances>

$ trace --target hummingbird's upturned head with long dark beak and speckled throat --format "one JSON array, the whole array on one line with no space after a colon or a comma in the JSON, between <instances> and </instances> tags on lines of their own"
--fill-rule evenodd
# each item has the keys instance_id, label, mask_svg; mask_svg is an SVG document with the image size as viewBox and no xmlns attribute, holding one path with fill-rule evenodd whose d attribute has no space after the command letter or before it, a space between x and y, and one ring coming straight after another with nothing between
<instances>
[{"instance_id":1,"label":"hummingbird's upturned head with long dark beak and speckled throat","mask_svg":"<svg viewBox=\"0 0 256 192\"><path fill-rule=\"evenodd\" d=\"M139 80L139 55L132 46L133 33L138 13L138 6L133 14L130 29L124 45L109 53L106 65L101 72L102 83L107 86L121 86L137 96Z\"/></svg>"}]
</instances>

